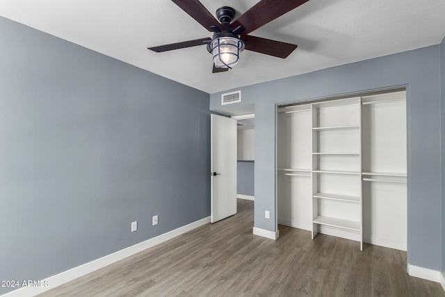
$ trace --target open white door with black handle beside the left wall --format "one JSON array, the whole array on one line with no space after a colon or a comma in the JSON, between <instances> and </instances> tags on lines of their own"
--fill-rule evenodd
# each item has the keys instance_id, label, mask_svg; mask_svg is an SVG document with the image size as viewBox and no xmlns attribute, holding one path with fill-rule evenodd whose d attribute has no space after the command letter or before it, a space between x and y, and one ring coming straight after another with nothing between
<instances>
[{"instance_id":1,"label":"open white door with black handle beside the left wall","mask_svg":"<svg viewBox=\"0 0 445 297\"><path fill-rule=\"evenodd\" d=\"M236 214L236 120L211 115L211 223Z\"/></svg>"}]
</instances>

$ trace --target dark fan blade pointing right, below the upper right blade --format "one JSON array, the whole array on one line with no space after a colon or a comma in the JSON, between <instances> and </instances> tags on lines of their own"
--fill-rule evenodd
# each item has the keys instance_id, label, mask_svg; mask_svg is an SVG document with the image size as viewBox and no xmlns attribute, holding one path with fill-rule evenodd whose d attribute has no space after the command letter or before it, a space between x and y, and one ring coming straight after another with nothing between
<instances>
[{"instance_id":1,"label":"dark fan blade pointing right, below the upper right blade","mask_svg":"<svg viewBox=\"0 0 445 297\"><path fill-rule=\"evenodd\" d=\"M250 35L241 36L241 40L245 41L245 49L256 51L257 53L275 56L278 58L287 58L291 52L296 49L297 45L291 43L270 40Z\"/></svg>"}]
</instances>

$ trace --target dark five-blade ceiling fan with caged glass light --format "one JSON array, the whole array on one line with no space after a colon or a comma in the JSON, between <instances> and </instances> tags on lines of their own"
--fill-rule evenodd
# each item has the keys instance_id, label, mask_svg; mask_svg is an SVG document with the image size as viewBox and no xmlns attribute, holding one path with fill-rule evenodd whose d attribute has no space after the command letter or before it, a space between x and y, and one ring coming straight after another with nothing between
<instances>
[{"instance_id":1,"label":"dark five-blade ceiling fan with caged glass light","mask_svg":"<svg viewBox=\"0 0 445 297\"><path fill-rule=\"evenodd\" d=\"M213 56L213 73L216 73L232 69L238 63L239 54L244 49L279 58L289 56L297 45L248 34L309 0L261 0L233 22L236 12L229 6L216 10L217 20L198 0L172 1L205 29L213 32L213 36L148 49L159 53L207 45L207 51Z\"/></svg>"}]
</instances>

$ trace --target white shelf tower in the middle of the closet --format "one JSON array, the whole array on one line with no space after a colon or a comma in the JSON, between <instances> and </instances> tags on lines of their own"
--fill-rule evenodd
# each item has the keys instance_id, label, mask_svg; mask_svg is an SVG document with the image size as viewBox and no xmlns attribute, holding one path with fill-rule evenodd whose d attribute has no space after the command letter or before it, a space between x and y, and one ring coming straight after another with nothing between
<instances>
[{"instance_id":1,"label":"white shelf tower in the middle of the closet","mask_svg":"<svg viewBox=\"0 0 445 297\"><path fill-rule=\"evenodd\" d=\"M360 98L312 104L312 239L330 226L362 249Z\"/></svg>"}]
</instances>

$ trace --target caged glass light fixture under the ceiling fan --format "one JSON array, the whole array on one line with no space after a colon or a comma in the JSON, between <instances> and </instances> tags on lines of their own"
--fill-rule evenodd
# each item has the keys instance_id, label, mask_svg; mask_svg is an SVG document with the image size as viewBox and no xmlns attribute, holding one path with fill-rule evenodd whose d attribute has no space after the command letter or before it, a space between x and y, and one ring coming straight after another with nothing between
<instances>
[{"instance_id":1,"label":"caged glass light fixture under the ceiling fan","mask_svg":"<svg viewBox=\"0 0 445 297\"><path fill-rule=\"evenodd\" d=\"M208 50L213 56L215 67L232 69L244 50L244 42L231 36L218 37L209 42Z\"/></svg>"}]
</instances>

